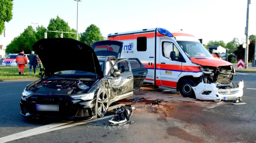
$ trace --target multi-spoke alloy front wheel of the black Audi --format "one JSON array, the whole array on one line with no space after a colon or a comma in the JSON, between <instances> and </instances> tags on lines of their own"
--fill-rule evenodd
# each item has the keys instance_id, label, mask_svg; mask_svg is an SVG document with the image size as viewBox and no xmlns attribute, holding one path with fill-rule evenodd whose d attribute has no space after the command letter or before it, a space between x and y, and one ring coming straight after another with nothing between
<instances>
[{"instance_id":1,"label":"multi-spoke alloy front wheel of the black Audi","mask_svg":"<svg viewBox=\"0 0 256 143\"><path fill-rule=\"evenodd\" d=\"M97 99L95 102L95 110L96 110L95 112L97 113L98 117L102 118L108 112L109 97L108 97L108 92L105 90L103 90L99 93L100 94L97 95ZM106 100L106 98L107 98L107 100Z\"/></svg>"}]
</instances>

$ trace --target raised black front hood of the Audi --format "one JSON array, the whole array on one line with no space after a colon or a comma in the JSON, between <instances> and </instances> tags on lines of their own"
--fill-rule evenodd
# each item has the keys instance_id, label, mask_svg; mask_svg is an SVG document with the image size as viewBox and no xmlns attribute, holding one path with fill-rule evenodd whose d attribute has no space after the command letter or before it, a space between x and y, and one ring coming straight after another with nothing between
<instances>
[{"instance_id":1,"label":"raised black front hood of the Audi","mask_svg":"<svg viewBox=\"0 0 256 143\"><path fill-rule=\"evenodd\" d=\"M32 48L42 61L46 73L79 70L103 77L95 52L85 43L71 38L48 38L37 41Z\"/></svg>"}]
</instances>

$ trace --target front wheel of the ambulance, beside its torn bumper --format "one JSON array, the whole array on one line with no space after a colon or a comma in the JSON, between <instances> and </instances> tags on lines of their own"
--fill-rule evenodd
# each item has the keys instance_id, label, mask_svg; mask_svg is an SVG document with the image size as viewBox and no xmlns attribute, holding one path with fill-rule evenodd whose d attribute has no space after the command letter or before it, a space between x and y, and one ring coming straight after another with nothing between
<instances>
[{"instance_id":1,"label":"front wheel of the ambulance, beside its torn bumper","mask_svg":"<svg viewBox=\"0 0 256 143\"><path fill-rule=\"evenodd\" d=\"M195 92L192 89L192 87L195 87L195 86L196 86L195 82L192 81L191 79L184 79L180 83L180 94L183 97L190 97L190 98L195 97Z\"/></svg>"}]
</instances>

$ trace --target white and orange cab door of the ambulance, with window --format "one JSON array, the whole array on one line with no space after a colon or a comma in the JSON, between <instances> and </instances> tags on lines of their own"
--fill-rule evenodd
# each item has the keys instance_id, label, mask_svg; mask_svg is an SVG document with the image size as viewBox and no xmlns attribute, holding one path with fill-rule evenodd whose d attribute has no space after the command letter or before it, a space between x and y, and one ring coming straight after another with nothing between
<instances>
[{"instance_id":1,"label":"white and orange cab door of the ambulance, with window","mask_svg":"<svg viewBox=\"0 0 256 143\"><path fill-rule=\"evenodd\" d=\"M162 86L176 88L176 79L182 72L184 58L172 40L161 40L159 52L159 70ZM171 59L171 52L175 52L175 59Z\"/></svg>"}]
</instances>

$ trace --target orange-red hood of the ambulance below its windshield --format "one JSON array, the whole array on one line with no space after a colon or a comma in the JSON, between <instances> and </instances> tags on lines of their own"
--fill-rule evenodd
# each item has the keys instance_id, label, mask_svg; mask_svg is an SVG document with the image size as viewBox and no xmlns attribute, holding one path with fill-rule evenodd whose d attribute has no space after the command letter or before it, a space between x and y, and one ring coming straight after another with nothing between
<instances>
[{"instance_id":1,"label":"orange-red hood of the ambulance below its windshield","mask_svg":"<svg viewBox=\"0 0 256 143\"><path fill-rule=\"evenodd\" d=\"M220 66L232 65L230 62L217 59L214 57L191 57L190 59L193 63L199 64L202 66L220 67Z\"/></svg>"}]
</instances>

